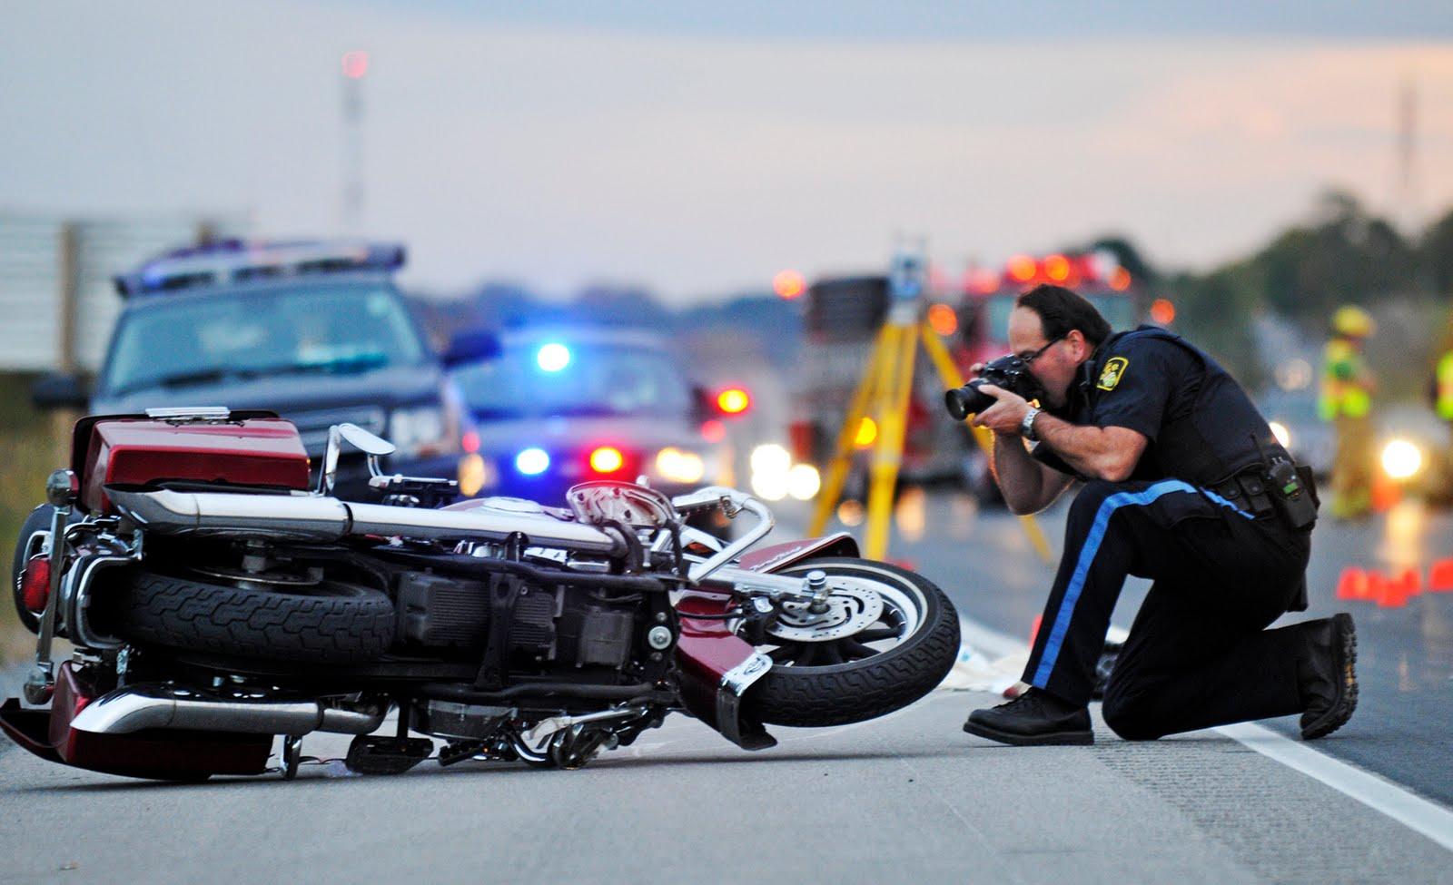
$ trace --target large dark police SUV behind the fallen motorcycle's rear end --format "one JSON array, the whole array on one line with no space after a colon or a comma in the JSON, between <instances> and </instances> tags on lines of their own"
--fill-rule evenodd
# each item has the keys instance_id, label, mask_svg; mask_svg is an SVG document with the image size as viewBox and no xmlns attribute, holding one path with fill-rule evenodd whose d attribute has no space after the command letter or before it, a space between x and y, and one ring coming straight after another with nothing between
<instances>
[{"instance_id":1,"label":"large dark police SUV behind the fallen motorcycle's rear end","mask_svg":"<svg viewBox=\"0 0 1453 885\"><path fill-rule=\"evenodd\" d=\"M153 407L273 410L298 426L318 465L331 424L349 421L398 450L388 472L453 477L469 432L445 360L391 275L398 244L244 243L182 248L118 276L126 305L87 397L71 376L32 391L38 405L92 414ZM344 453L336 494L368 500L368 469Z\"/></svg>"}]
</instances>

